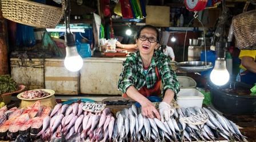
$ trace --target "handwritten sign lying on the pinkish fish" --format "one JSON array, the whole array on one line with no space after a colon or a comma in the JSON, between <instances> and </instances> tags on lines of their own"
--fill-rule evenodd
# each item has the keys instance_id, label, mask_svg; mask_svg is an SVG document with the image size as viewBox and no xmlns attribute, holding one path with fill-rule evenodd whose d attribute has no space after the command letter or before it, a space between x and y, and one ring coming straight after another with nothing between
<instances>
[{"instance_id":1,"label":"handwritten sign lying on the pinkish fish","mask_svg":"<svg viewBox=\"0 0 256 142\"><path fill-rule=\"evenodd\" d=\"M82 109L90 112L101 112L106 107L106 104L86 102L83 104Z\"/></svg>"}]
</instances>

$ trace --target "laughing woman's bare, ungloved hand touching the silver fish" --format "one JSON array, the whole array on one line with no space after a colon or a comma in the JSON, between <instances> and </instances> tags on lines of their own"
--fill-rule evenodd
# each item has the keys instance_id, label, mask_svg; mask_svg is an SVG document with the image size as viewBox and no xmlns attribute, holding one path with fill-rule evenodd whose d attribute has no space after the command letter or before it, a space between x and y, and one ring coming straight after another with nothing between
<instances>
[{"instance_id":1,"label":"laughing woman's bare, ungloved hand touching the silver fish","mask_svg":"<svg viewBox=\"0 0 256 142\"><path fill-rule=\"evenodd\" d=\"M141 104L141 109L143 116L147 116L147 118L157 117L157 119L161 120L159 112L157 111L153 103L151 103L150 101L143 102Z\"/></svg>"}]
</instances>

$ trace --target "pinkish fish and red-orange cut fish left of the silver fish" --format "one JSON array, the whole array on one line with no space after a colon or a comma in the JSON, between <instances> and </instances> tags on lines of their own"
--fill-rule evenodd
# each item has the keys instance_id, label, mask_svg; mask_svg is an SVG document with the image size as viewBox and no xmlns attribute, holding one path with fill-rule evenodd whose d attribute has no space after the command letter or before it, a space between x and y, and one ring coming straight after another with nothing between
<instances>
[{"instance_id":1,"label":"pinkish fish and red-orange cut fish left of the silver fish","mask_svg":"<svg viewBox=\"0 0 256 142\"><path fill-rule=\"evenodd\" d=\"M0 109L0 139L15 141L107 141L113 135L115 118L109 108L93 114L72 105ZM111 139L110 139L111 140Z\"/></svg>"}]
</instances>

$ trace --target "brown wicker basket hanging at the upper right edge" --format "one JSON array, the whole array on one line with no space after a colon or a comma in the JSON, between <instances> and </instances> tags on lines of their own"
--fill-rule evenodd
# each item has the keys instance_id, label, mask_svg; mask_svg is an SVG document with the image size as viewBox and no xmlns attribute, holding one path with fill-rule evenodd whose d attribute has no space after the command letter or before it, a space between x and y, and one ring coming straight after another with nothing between
<instances>
[{"instance_id":1,"label":"brown wicker basket hanging at the upper right edge","mask_svg":"<svg viewBox=\"0 0 256 142\"><path fill-rule=\"evenodd\" d=\"M233 17L234 35L239 49L256 49L256 10L247 11L247 1L242 14Z\"/></svg>"}]
</instances>

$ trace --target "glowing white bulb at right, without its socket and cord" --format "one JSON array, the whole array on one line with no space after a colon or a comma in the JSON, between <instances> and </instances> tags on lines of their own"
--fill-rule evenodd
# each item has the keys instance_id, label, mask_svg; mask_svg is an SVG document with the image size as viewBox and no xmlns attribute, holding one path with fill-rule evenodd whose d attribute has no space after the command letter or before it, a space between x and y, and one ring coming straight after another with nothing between
<instances>
[{"instance_id":1,"label":"glowing white bulb at right, without its socket and cord","mask_svg":"<svg viewBox=\"0 0 256 142\"><path fill-rule=\"evenodd\" d=\"M210 79L211 82L218 86L225 85L227 82L229 82L229 72L226 68L225 59L218 58L215 61L214 68L210 74Z\"/></svg>"}]
</instances>

